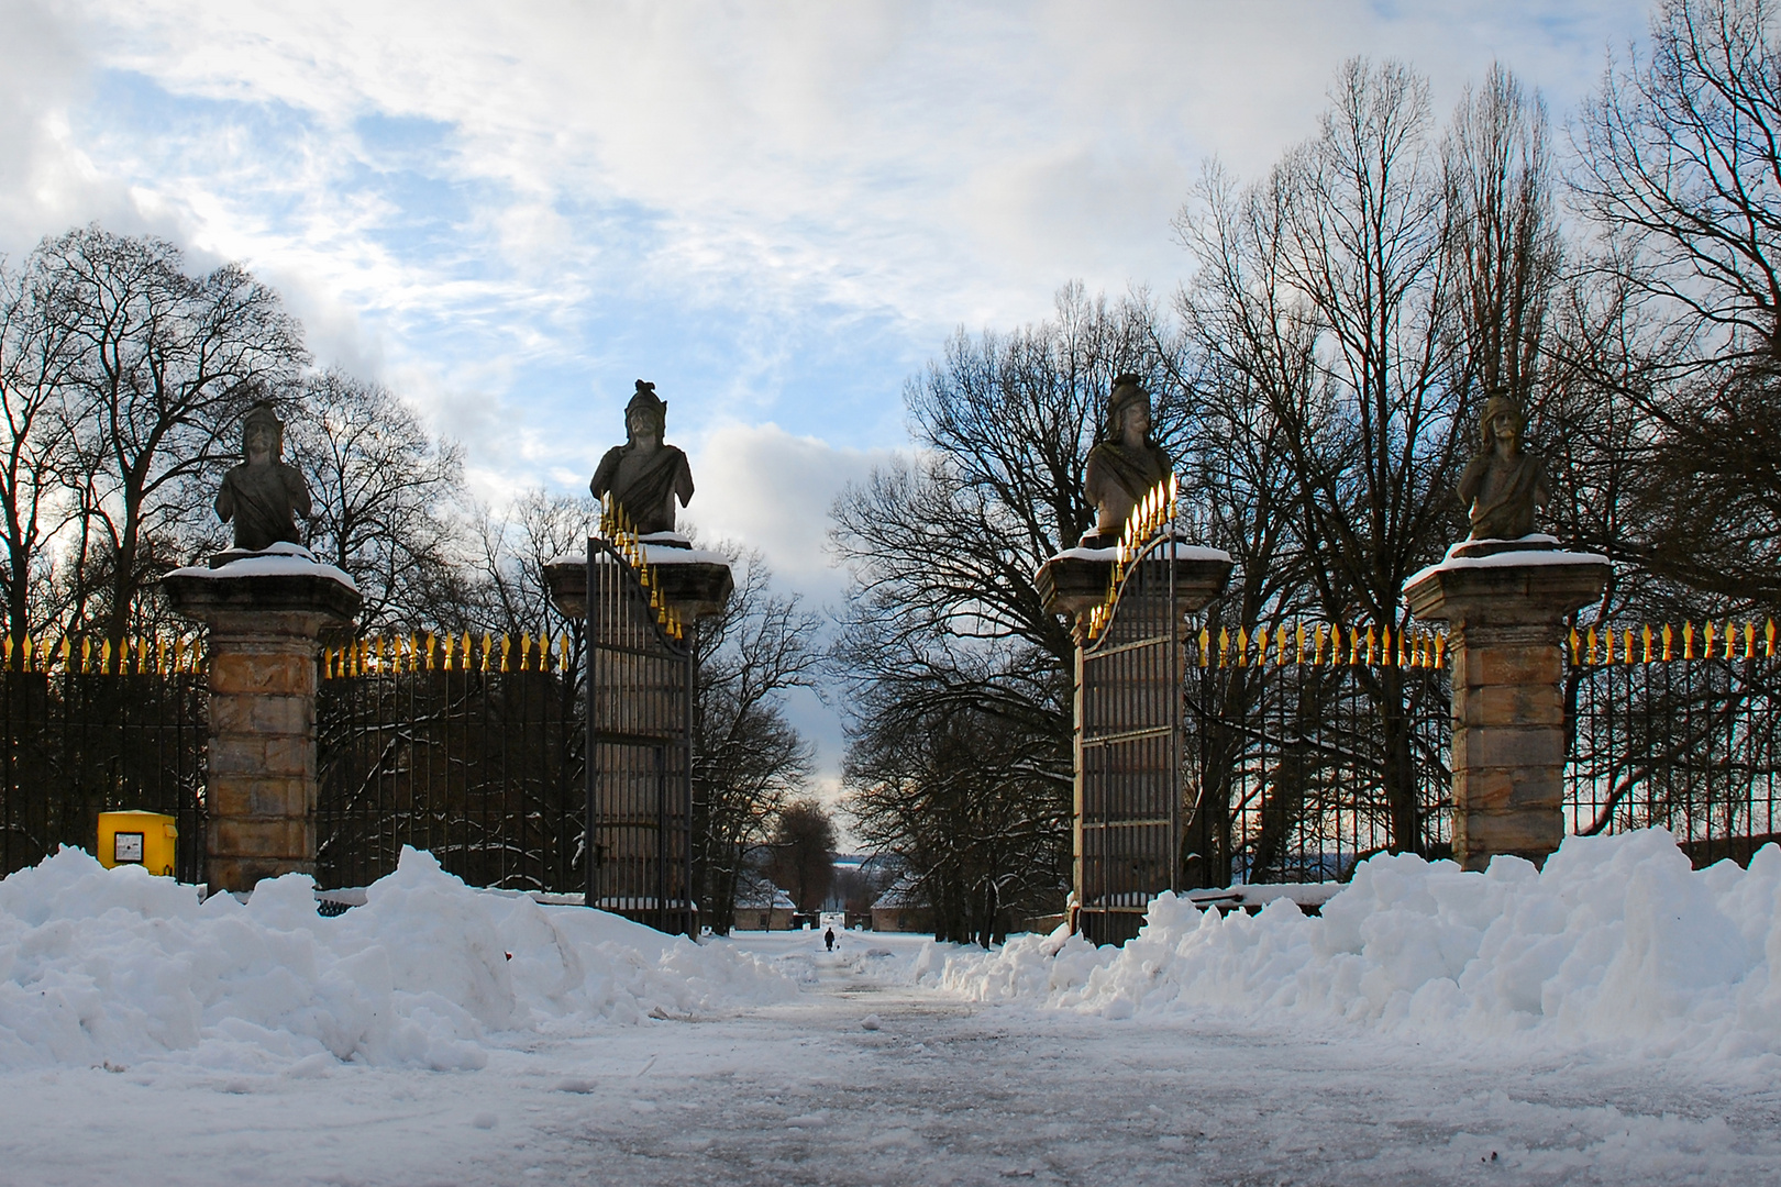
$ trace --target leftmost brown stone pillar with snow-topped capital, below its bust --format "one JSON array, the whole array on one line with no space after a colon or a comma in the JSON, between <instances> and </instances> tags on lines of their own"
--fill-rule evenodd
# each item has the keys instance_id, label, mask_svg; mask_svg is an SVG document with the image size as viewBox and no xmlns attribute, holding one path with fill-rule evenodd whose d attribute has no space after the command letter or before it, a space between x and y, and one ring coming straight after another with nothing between
<instances>
[{"instance_id":1,"label":"leftmost brown stone pillar with snow-topped capital, below its bust","mask_svg":"<svg viewBox=\"0 0 1781 1187\"><path fill-rule=\"evenodd\" d=\"M349 626L362 602L346 573L289 546L217 561L162 578L173 609L208 626L212 893L315 874L319 635Z\"/></svg>"}]
</instances>

